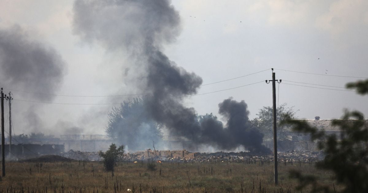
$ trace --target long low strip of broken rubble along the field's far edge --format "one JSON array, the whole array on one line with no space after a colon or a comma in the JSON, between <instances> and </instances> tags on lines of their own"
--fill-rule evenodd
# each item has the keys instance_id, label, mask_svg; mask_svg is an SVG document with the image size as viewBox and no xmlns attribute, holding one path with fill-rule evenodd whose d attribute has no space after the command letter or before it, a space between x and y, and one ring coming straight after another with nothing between
<instances>
[{"instance_id":1,"label":"long low strip of broken rubble along the field's far edge","mask_svg":"<svg viewBox=\"0 0 368 193\"><path fill-rule=\"evenodd\" d=\"M101 158L98 152L81 152L70 150L62 154L63 157L74 160L99 161ZM320 151L296 151L289 150L277 153L279 162L286 163L307 163L322 160L324 157ZM250 152L216 152L216 153L191 153L187 150L166 150L137 151L127 153L124 156L126 161L179 161L179 162L246 162L246 163L270 163L273 162L272 154L254 154Z\"/></svg>"}]
</instances>

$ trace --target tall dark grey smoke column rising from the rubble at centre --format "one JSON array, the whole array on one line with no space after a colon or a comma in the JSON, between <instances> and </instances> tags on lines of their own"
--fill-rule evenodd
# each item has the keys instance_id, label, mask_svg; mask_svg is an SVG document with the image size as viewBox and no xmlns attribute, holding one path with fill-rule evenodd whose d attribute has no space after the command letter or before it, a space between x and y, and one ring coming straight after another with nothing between
<instances>
[{"instance_id":1,"label":"tall dark grey smoke column rising from the rubble at centre","mask_svg":"<svg viewBox=\"0 0 368 193\"><path fill-rule=\"evenodd\" d=\"M129 51L145 77L141 86L152 97L145 100L146 111L169 129L195 144L211 144L221 149L245 146L266 150L262 134L248 123L247 105L227 99L219 113L228 119L226 128L213 117L198 121L194 108L181 99L195 94L202 78L178 67L162 53L162 45L175 40L180 17L169 0L77 0L74 4L74 33L88 42L98 42L110 51Z\"/></svg>"}]
</instances>

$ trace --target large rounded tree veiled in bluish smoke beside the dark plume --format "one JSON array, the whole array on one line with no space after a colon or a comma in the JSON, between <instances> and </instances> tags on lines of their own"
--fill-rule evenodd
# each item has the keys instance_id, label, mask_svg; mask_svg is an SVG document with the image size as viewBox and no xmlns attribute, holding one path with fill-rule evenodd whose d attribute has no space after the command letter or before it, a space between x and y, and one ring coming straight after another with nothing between
<instances>
[{"instance_id":1,"label":"large rounded tree veiled in bluish smoke beside the dark plume","mask_svg":"<svg viewBox=\"0 0 368 193\"><path fill-rule=\"evenodd\" d=\"M113 107L107 115L107 135L129 150L142 150L152 147L162 140L161 125L155 122L144 107L144 99L134 98L124 101L120 107Z\"/></svg>"}]
</instances>

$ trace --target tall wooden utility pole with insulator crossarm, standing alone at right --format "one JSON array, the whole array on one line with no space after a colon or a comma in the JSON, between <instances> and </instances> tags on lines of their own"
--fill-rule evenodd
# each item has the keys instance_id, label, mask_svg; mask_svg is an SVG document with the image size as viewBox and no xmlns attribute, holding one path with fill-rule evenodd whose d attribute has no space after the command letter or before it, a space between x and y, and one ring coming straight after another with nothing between
<instances>
[{"instance_id":1,"label":"tall wooden utility pole with insulator crossarm, standing alone at right","mask_svg":"<svg viewBox=\"0 0 368 193\"><path fill-rule=\"evenodd\" d=\"M273 72L273 68L272 69L272 80L266 80L266 83L270 83L272 81L272 104L273 104L273 111L272 111L272 117L273 117L273 156L274 156L274 166L275 166L275 171L273 174L273 181L275 182L275 185L277 185L279 182L278 180L278 171L277 171L277 128L276 128L276 124L277 124L277 114L276 114L276 81L277 83L281 83L281 79L280 82L279 80L275 80L275 72Z\"/></svg>"}]
</instances>

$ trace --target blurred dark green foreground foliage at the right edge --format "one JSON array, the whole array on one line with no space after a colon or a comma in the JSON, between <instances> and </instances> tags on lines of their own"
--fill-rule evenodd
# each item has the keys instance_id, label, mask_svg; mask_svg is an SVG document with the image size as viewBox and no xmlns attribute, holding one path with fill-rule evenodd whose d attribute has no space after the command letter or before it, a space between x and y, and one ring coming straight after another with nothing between
<instances>
[{"instance_id":1,"label":"blurred dark green foreground foliage at the right edge","mask_svg":"<svg viewBox=\"0 0 368 193\"><path fill-rule=\"evenodd\" d=\"M368 94L368 81L348 83L347 87L356 89L360 94ZM316 163L316 168L332 171L336 183L343 186L342 192L368 192L368 121L361 112L345 111L342 119L332 121L333 126L340 128L341 136L327 135L306 121L291 117L282 124L292 125L294 131L311 134L311 139L318 142L318 149L326 154L323 160ZM290 177L298 180L298 190L311 186L312 192L335 192L319 184L314 175L303 175L293 170Z\"/></svg>"}]
</instances>

